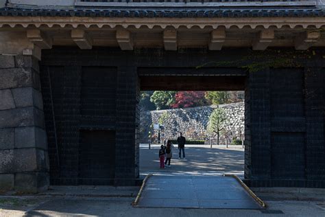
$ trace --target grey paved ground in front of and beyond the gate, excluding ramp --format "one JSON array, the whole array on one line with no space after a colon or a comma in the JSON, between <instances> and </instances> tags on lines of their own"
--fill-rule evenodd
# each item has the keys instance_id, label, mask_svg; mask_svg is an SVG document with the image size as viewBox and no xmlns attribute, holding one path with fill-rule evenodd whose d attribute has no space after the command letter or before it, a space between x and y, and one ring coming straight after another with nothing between
<instances>
[{"instance_id":1,"label":"grey paved ground in front of and beyond the gate, excluding ramp","mask_svg":"<svg viewBox=\"0 0 325 217\"><path fill-rule=\"evenodd\" d=\"M159 169L158 146L141 145L141 174L215 176L234 173L243 176L243 149L186 146L186 160L174 152L172 167ZM184 209L132 207L140 187L56 187L41 195L0 195L0 216L325 216L325 190L290 189L287 194L265 191L269 206L261 209ZM283 191L286 191L284 189ZM296 192L304 192L297 197ZM164 192L162 192L163 194ZM319 193L319 194L317 194ZM257 192L259 196L259 192ZM317 194L317 197L315 197Z\"/></svg>"}]
</instances>

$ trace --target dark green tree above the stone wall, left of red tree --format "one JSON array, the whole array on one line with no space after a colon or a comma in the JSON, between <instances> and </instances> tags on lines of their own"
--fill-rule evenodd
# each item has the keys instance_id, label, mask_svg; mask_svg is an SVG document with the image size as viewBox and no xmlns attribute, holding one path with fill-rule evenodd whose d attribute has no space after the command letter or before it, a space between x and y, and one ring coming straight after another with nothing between
<instances>
[{"instance_id":1,"label":"dark green tree above the stone wall, left of red tree","mask_svg":"<svg viewBox=\"0 0 325 217\"><path fill-rule=\"evenodd\" d=\"M154 91L150 97L150 102L156 105L156 109L169 109L175 102L176 91Z\"/></svg>"}]
</instances>

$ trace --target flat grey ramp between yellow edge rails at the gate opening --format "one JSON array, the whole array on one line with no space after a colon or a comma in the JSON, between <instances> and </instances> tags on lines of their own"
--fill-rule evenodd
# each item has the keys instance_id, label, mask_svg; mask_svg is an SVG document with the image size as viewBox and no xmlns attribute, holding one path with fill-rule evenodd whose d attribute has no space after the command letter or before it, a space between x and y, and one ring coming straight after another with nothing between
<instances>
[{"instance_id":1,"label":"flat grey ramp between yellow edge rails at the gate opening","mask_svg":"<svg viewBox=\"0 0 325 217\"><path fill-rule=\"evenodd\" d=\"M228 176L151 176L137 207L263 209Z\"/></svg>"}]
</instances>

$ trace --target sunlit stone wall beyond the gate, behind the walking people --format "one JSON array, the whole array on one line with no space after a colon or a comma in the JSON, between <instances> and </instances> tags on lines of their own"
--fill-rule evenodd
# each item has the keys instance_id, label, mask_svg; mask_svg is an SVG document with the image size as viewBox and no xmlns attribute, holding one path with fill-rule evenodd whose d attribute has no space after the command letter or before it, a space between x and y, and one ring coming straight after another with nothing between
<instances>
[{"instance_id":1,"label":"sunlit stone wall beyond the gate, behind the walking people","mask_svg":"<svg viewBox=\"0 0 325 217\"><path fill-rule=\"evenodd\" d=\"M244 133L244 103L232 103L220 105L226 111L225 132L221 136L221 144L231 142L232 137L243 137ZM141 141L147 142L149 128L159 122L164 125L161 131L162 139L173 139L182 132L188 139L211 139L206 133L208 119L213 109L217 106L201 106L188 109L167 109L160 111L145 111L141 113ZM154 137L158 135L154 130ZM215 137L212 137L215 143Z\"/></svg>"}]
</instances>

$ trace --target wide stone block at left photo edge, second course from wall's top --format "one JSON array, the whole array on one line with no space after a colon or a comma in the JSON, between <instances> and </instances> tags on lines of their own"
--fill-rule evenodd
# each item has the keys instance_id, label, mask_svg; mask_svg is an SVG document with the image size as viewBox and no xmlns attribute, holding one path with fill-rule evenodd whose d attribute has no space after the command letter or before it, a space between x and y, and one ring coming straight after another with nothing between
<instances>
[{"instance_id":1,"label":"wide stone block at left photo edge, second course from wall's top","mask_svg":"<svg viewBox=\"0 0 325 217\"><path fill-rule=\"evenodd\" d=\"M14 68L0 69L0 89L16 87L32 87L33 75L31 69Z\"/></svg>"}]
</instances>

